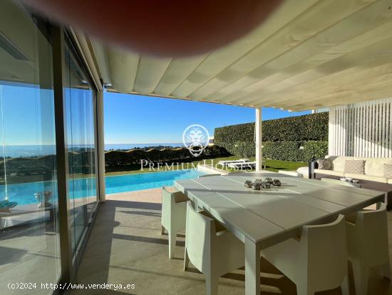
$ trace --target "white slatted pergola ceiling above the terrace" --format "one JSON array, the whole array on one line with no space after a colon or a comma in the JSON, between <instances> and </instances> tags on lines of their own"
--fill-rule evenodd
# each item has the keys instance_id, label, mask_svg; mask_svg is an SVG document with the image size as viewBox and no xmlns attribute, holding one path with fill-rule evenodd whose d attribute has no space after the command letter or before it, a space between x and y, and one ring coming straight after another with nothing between
<instances>
[{"instance_id":1,"label":"white slatted pergola ceiling above the terrace","mask_svg":"<svg viewBox=\"0 0 392 295\"><path fill-rule=\"evenodd\" d=\"M110 91L300 111L392 96L392 0L287 0L247 36L200 56L93 44Z\"/></svg>"}]
</instances>

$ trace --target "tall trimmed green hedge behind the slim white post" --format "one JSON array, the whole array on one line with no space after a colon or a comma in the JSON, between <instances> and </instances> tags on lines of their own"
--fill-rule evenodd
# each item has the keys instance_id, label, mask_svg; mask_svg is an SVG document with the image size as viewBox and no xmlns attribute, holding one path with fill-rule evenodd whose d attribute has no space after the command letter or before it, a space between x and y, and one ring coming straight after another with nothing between
<instances>
[{"instance_id":1,"label":"tall trimmed green hedge behind the slim white post","mask_svg":"<svg viewBox=\"0 0 392 295\"><path fill-rule=\"evenodd\" d=\"M329 114L325 112L263 121L263 156L285 161L324 157L328 154L328 120ZM214 144L236 156L254 156L253 140L254 123L215 129Z\"/></svg>"}]
</instances>

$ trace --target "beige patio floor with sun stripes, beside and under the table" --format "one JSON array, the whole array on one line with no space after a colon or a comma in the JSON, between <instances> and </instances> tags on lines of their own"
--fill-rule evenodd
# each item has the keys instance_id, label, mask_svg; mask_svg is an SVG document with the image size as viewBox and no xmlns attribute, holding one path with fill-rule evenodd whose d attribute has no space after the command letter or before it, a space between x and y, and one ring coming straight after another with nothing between
<instances>
[{"instance_id":1,"label":"beige patio floor with sun stripes, beside and under the table","mask_svg":"<svg viewBox=\"0 0 392 295\"><path fill-rule=\"evenodd\" d=\"M205 277L195 268L182 270L184 235L177 237L175 259L167 255L167 235L160 234L160 189L107 196L101 204L78 269L80 284L135 284L135 289L80 290L71 294L205 294ZM388 214L392 254L392 212ZM262 294L296 294L287 277L262 260ZM244 270L220 278L220 294L244 294ZM340 289L319 294L341 294ZM354 293L351 286L351 294ZM368 294L392 294L377 269Z\"/></svg>"}]
</instances>

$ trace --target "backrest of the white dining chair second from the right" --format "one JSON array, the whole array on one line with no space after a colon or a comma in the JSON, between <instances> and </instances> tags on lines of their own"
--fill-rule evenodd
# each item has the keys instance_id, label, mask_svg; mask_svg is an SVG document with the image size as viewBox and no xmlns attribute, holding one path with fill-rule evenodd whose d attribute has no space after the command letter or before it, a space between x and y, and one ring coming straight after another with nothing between
<instances>
[{"instance_id":1,"label":"backrest of the white dining chair second from the right","mask_svg":"<svg viewBox=\"0 0 392 295\"><path fill-rule=\"evenodd\" d=\"M301 242L307 248L307 272L319 289L339 286L347 275L346 221L339 215L331 224L304 226Z\"/></svg>"}]
</instances>

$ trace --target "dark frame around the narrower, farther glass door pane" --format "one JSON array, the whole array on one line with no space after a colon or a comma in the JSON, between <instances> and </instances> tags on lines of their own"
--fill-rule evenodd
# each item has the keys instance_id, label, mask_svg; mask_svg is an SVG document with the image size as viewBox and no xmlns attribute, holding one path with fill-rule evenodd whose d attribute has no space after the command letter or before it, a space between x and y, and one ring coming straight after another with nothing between
<instances>
[{"instance_id":1,"label":"dark frame around the narrower, farther glass door pane","mask_svg":"<svg viewBox=\"0 0 392 295\"><path fill-rule=\"evenodd\" d=\"M83 62L83 59L78 52L78 47L71 34L61 26L53 25L53 91L54 91L54 109L55 109L55 130L56 130L56 162L57 162L57 185L58 185L58 219L59 219L59 233L60 233L60 254L61 254L61 279L60 284L68 284L76 276L78 264L81 261L81 255L86 247L88 236L91 233L93 223L96 219L96 212L99 207L100 196L104 192L100 191L100 182L104 181L102 175L104 171L100 171L102 164L103 153L102 148L98 147L99 137L103 136L98 132L99 120L102 116L98 111L98 104L100 104L101 93L98 93L96 84L91 84L93 90L93 121L94 121L94 144L95 144L95 171L96 171L96 196L97 201L94 204L92 213L88 216L86 229L83 230L81 242L78 244L75 254L72 252L71 245L71 204L68 186L68 144L66 134L66 109L65 109L65 94L64 87L66 86L66 64L65 64L65 48L66 39L68 43L73 45L73 53L78 55L80 66L85 71L90 81L93 81L91 74L88 71L88 66ZM104 159L104 158L103 158ZM103 164L104 165L104 164ZM104 167L104 166L103 166ZM57 293L55 291L55 293Z\"/></svg>"}]
</instances>

